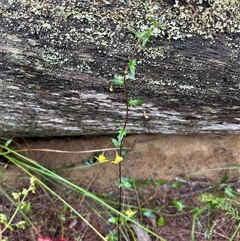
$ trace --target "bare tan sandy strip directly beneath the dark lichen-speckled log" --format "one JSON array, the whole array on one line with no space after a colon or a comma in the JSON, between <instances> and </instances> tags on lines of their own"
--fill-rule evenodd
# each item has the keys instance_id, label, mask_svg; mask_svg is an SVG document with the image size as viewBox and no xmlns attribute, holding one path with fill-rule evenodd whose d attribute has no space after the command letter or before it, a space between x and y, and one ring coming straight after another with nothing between
<instances>
[{"instance_id":1,"label":"bare tan sandy strip directly beneath the dark lichen-speckled log","mask_svg":"<svg viewBox=\"0 0 240 241\"><path fill-rule=\"evenodd\" d=\"M83 151L112 147L110 137L27 139L22 146L31 148ZM229 171L231 179L240 176L240 135L129 135L124 146L127 156L122 162L122 175L137 179L167 179L191 174L191 178L218 181ZM80 185L91 183L98 190L111 190L118 185L118 165L110 162L83 166L94 153L63 154L33 152L27 155ZM115 152L106 152L111 158ZM63 170L65 163L73 170ZM235 167L235 168L234 168ZM231 170L233 169L233 170ZM10 168L9 172L13 170ZM16 173L13 175L16 176Z\"/></svg>"}]
</instances>

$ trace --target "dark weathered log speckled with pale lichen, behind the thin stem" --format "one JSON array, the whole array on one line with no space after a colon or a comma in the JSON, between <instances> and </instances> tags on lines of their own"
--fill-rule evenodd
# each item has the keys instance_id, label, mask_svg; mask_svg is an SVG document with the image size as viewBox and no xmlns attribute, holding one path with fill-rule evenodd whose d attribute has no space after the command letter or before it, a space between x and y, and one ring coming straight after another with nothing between
<instances>
[{"instance_id":1,"label":"dark weathered log speckled with pale lichen, behind the thin stem","mask_svg":"<svg viewBox=\"0 0 240 241\"><path fill-rule=\"evenodd\" d=\"M239 2L188 2L2 0L0 136L115 133L125 97L109 79L136 43L127 29L152 19L162 25L128 81L144 101L128 133L240 133Z\"/></svg>"}]
</instances>

